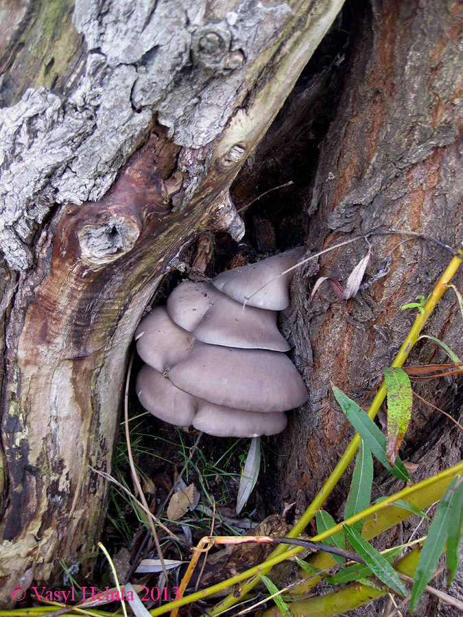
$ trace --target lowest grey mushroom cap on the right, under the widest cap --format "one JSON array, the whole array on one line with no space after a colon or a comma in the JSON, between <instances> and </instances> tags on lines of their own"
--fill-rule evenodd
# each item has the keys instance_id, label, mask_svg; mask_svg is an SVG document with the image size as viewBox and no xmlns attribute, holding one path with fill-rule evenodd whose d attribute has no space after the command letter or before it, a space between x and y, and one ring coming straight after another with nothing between
<instances>
[{"instance_id":1,"label":"lowest grey mushroom cap on the right, under the widest cap","mask_svg":"<svg viewBox=\"0 0 463 617\"><path fill-rule=\"evenodd\" d=\"M258 413L241 411L213 405L198 399L198 413L193 419L193 426L215 437L259 437L259 435L276 435L287 424L284 411Z\"/></svg>"}]
</instances>

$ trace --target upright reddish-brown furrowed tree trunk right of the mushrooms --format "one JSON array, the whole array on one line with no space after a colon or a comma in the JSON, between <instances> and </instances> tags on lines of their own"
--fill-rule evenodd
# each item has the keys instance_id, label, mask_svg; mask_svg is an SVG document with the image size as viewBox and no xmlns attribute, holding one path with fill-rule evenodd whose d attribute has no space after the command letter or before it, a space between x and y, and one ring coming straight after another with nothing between
<instances>
[{"instance_id":1,"label":"upright reddish-brown furrowed tree trunk right of the mushrooms","mask_svg":"<svg viewBox=\"0 0 463 617\"><path fill-rule=\"evenodd\" d=\"M308 205L307 246L311 252L372 230L410 230L459 247L463 223L463 107L458 41L463 27L458 2L401 2L373 5L359 19L353 58L333 123L324 140ZM372 260L356 298L337 301L329 285L309 301L307 277L296 275L294 302L285 328L292 333L300 367L309 383L309 403L293 416L281 439L282 497L300 510L318 492L337 462L335 444L346 419L330 383L359 402L390 365L415 318L401 306L427 295L451 253L424 238L388 234L370 237ZM366 255L366 241L320 258L319 276L346 282ZM392 263L387 274L384 260ZM455 277L462 288L463 272ZM311 286L310 286L311 287ZM425 332L463 354L462 315L449 290ZM411 365L449 361L436 343L420 341ZM431 404L462 413L455 381L442 379L414 387ZM460 457L461 433L435 409L414 400L414 416L403 449L405 459L427 443L439 426L447 455L431 451L412 474L419 481L439 465ZM449 432L450 431L450 432ZM351 433L337 447L344 449ZM436 437L436 435L435 435ZM290 447L291 446L291 447ZM423 455L423 452L422 452ZM432 461L432 462L431 462ZM332 506L340 506L344 490Z\"/></svg>"}]
</instances>

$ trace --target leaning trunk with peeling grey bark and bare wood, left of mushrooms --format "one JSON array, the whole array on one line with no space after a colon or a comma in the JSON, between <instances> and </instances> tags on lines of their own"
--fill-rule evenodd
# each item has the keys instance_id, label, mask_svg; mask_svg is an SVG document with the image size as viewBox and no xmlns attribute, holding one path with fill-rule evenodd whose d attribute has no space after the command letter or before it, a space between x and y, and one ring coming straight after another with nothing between
<instances>
[{"instance_id":1,"label":"leaning trunk with peeling grey bark and bare wood, left of mushrooms","mask_svg":"<svg viewBox=\"0 0 463 617\"><path fill-rule=\"evenodd\" d=\"M93 552L126 356L342 0L0 8L2 600ZM3 27L5 25L5 27Z\"/></svg>"}]
</instances>

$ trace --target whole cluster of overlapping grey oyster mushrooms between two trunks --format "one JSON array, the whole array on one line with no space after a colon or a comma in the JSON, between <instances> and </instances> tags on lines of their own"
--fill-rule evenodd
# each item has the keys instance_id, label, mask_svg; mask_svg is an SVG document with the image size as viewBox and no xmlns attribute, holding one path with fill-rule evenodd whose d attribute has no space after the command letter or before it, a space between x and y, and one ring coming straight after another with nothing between
<instances>
[{"instance_id":1,"label":"whole cluster of overlapping grey oyster mushrooms between two trunks","mask_svg":"<svg viewBox=\"0 0 463 617\"><path fill-rule=\"evenodd\" d=\"M289 305L292 272L278 275L300 256L297 248L211 282L185 280L166 306L146 315L135 332L146 363L136 378L143 407L217 437L283 431L285 411L308 398L276 327L277 312Z\"/></svg>"}]
</instances>

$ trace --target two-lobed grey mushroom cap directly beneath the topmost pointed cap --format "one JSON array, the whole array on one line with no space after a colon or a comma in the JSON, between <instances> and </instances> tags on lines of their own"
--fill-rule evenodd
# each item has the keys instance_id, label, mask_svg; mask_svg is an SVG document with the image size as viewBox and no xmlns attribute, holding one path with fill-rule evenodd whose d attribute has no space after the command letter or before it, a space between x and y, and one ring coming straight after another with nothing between
<instances>
[{"instance_id":1,"label":"two-lobed grey mushroom cap directly beneath the topmost pointed cap","mask_svg":"<svg viewBox=\"0 0 463 617\"><path fill-rule=\"evenodd\" d=\"M285 352L289 343L276 327L276 311L243 306L211 283L184 281L167 300L171 319L211 345Z\"/></svg>"}]
</instances>

